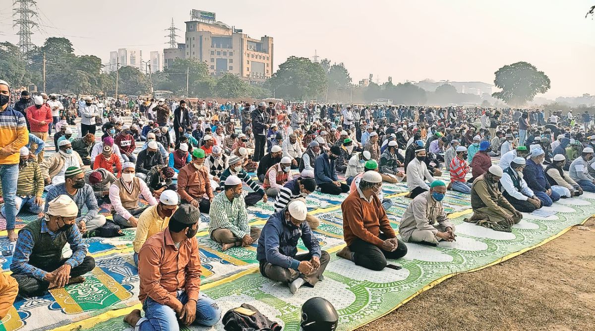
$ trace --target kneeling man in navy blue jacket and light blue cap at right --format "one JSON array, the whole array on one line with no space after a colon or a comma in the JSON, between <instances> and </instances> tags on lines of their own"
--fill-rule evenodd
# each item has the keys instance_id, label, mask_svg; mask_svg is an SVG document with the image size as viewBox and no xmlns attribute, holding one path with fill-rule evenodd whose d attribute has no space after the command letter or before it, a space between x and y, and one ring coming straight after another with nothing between
<instances>
[{"instance_id":1,"label":"kneeling man in navy blue jacket and light blue cap at right","mask_svg":"<svg viewBox=\"0 0 595 331\"><path fill-rule=\"evenodd\" d=\"M546 153L540 147L531 149L523 174L529 188L541 200L541 205L550 207L553 202L560 199L560 195L552 191L543 171L543 166L541 166L545 155Z\"/></svg>"}]
</instances>

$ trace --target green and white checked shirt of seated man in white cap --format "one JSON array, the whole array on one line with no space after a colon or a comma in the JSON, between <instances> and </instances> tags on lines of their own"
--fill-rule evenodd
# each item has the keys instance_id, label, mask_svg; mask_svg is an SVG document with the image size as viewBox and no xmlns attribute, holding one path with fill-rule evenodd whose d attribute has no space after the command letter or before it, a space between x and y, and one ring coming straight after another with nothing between
<instances>
[{"instance_id":1,"label":"green and white checked shirt of seated man in white cap","mask_svg":"<svg viewBox=\"0 0 595 331\"><path fill-rule=\"evenodd\" d=\"M209 234L215 229L228 229L237 238L244 238L250 233L248 225L248 211L243 198L229 201L225 192L219 193L211 203L209 211Z\"/></svg>"}]
</instances>

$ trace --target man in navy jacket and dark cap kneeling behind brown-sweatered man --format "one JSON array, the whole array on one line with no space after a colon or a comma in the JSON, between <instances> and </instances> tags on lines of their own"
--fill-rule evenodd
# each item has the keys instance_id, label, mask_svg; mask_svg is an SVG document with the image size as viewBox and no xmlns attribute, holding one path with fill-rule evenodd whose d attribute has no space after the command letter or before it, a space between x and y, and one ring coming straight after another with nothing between
<instances>
[{"instance_id":1,"label":"man in navy jacket and dark cap kneeling behind brown-sweatered man","mask_svg":"<svg viewBox=\"0 0 595 331\"><path fill-rule=\"evenodd\" d=\"M349 186L339 182L335 171L334 161L339 155L341 155L341 148L333 145L328 152L318 155L314 161L314 179L322 193L339 195L349 192Z\"/></svg>"}]
</instances>

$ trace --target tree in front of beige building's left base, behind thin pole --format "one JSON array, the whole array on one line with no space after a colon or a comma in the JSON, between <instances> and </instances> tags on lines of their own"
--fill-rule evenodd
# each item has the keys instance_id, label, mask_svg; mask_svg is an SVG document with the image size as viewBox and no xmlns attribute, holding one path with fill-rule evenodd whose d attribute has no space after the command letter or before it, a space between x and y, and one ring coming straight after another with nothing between
<instances>
[{"instance_id":1,"label":"tree in front of beige building's left base, behind thin pole","mask_svg":"<svg viewBox=\"0 0 595 331\"><path fill-rule=\"evenodd\" d=\"M188 94L192 96L211 95L214 80L209 76L208 67L206 63L193 58L177 58L164 70L170 82L164 86L164 89L185 95L186 70L188 70Z\"/></svg>"}]
</instances>

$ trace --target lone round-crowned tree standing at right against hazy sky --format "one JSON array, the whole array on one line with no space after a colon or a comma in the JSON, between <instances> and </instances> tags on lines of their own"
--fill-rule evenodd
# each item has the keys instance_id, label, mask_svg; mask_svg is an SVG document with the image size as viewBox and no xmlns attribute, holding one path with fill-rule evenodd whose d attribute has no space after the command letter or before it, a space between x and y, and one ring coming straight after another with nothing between
<instances>
[{"instance_id":1,"label":"lone round-crowned tree standing at right against hazy sky","mask_svg":"<svg viewBox=\"0 0 595 331\"><path fill-rule=\"evenodd\" d=\"M512 106L522 106L532 101L537 93L550 89L549 77L527 62L505 65L494 74L494 85L502 91L492 93L492 96Z\"/></svg>"}]
</instances>

